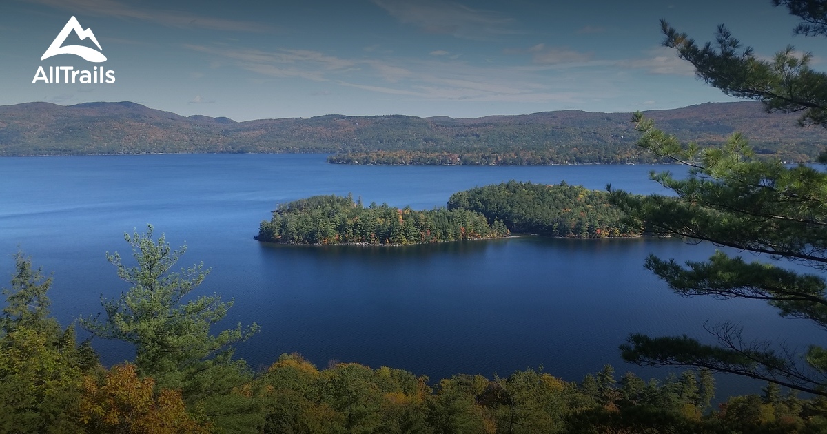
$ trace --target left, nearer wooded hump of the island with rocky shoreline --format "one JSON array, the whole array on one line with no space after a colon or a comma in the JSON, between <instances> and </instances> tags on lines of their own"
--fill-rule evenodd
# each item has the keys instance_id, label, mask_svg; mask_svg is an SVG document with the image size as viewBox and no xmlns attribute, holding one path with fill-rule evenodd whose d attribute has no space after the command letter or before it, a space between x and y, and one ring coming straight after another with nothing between
<instances>
[{"instance_id":1,"label":"left, nearer wooded hump of the island with rocky shoreline","mask_svg":"<svg viewBox=\"0 0 827 434\"><path fill-rule=\"evenodd\" d=\"M508 236L503 222L478 212L446 208L414 211L383 203L362 205L352 196L313 196L280 204L261 222L259 241L291 244L418 244Z\"/></svg>"}]
</instances>

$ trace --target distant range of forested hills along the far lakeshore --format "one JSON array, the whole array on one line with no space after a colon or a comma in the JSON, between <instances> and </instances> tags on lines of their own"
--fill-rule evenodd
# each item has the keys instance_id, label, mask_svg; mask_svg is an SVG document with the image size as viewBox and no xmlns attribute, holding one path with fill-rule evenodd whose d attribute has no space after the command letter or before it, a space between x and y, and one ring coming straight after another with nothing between
<instances>
[{"instance_id":1,"label":"distant range of forested hills along the far lakeshore","mask_svg":"<svg viewBox=\"0 0 827 434\"><path fill-rule=\"evenodd\" d=\"M719 144L742 131L759 154L783 160L814 160L827 145L824 128L802 128L796 115L769 114L759 103L705 103L645 113L663 130L701 145ZM638 133L630 117L566 110L476 119L327 115L235 122L128 102L23 103L0 106L0 155L324 152L336 154L333 162L356 163L354 155L361 156L362 164L371 162L364 158L370 155L449 155L462 164L473 158L476 164L492 164L494 158L500 164L651 160L634 146ZM520 155L545 155L545 160L519 160ZM417 161L385 162L433 164Z\"/></svg>"}]
</instances>

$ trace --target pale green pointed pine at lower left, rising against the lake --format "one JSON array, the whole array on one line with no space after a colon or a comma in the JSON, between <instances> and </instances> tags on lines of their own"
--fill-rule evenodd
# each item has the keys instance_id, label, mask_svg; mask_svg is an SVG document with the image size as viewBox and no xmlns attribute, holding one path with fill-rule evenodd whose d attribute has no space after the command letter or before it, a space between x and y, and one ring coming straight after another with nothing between
<instances>
[{"instance_id":1,"label":"pale green pointed pine at lower left, rising against the lake","mask_svg":"<svg viewBox=\"0 0 827 434\"><path fill-rule=\"evenodd\" d=\"M107 255L117 267L117 275L131 284L119 298L102 300L105 318L94 317L81 323L95 336L127 341L135 345L135 364L141 374L161 381L167 374L188 370L190 365L208 359L243 341L258 329L256 324L242 330L241 324L213 336L209 327L220 321L232 300L222 302L218 295L185 301L209 273L203 264L174 272L173 267L186 246L172 250L165 236L157 242L153 227L146 234L124 234L132 248L135 266L127 267L117 254Z\"/></svg>"}]
</instances>

